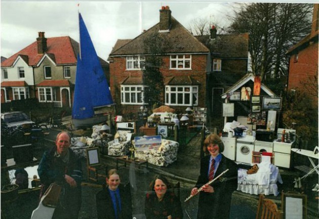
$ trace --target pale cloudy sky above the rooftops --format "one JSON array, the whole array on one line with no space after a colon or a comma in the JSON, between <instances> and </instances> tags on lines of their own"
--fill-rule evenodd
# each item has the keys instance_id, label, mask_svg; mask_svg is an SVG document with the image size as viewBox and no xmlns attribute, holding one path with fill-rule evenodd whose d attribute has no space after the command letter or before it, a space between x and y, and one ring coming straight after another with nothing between
<instances>
[{"instance_id":1,"label":"pale cloudy sky above the rooftops","mask_svg":"<svg viewBox=\"0 0 319 219\"><path fill-rule=\"evenodd\" d=\"M79 3L79 6L77 4ZM1 2L1 56L9 58L45 37L70 36L79 41L78 11L99 57L107 60L117 39L133 39L160 21L160 9L169 6L185 28L204 18L229 25L233 3L213 2Z\"/></svg>"}]
</instances>

